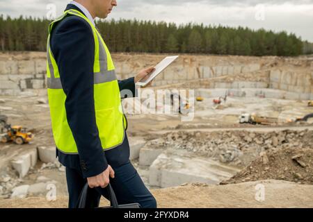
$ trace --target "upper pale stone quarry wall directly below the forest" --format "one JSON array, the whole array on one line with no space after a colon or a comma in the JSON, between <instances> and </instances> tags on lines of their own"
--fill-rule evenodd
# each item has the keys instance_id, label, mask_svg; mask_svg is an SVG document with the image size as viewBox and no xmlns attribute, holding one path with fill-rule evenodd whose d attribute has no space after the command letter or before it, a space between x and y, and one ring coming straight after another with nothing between
<instances>
[{"instance_id":1,"label":"upper pale stone quarry wall directly below the forest","mask_svg":"<svg viewBox=\"0 0 313 222\"><path fill-rule=\"evenodd\" d=\"M166 55L113 53L118 78L129 78L139 70L155 65ZM0 95L47 94L45 53L0 54ZM184 83L190 80L218 80L209 88L279 89L313 97L312 58L193 56L180 55L177 61L154 80L155 86ZM236 80L236 76L246 76ZM262 76L262 78L259 78ZM304 96L303 96L304 95Z\"/></svg>"}]
</instances>

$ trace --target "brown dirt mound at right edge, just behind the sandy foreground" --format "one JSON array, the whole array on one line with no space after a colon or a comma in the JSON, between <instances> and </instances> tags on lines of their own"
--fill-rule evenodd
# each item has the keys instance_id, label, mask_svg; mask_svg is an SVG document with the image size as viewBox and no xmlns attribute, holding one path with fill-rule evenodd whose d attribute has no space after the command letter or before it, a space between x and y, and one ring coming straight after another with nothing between
<instances>
[{"instance_id":1,"label":"brown dirt mound at right edge, just behind the sandy foreground","mask_svg":"<svg viewBox=\"0 0 313 222\"><path fill-rule=\"evenodd\" d=\"M221 184L256 180L287 180L313 185L313 149L279 148L267 151Z\"/></svg>"}]
</instances>

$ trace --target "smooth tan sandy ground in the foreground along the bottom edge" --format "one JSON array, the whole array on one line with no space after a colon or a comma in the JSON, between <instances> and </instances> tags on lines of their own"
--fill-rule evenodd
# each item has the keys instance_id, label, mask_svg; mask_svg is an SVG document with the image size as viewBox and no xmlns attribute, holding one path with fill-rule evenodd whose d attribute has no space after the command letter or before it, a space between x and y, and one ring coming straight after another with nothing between
<instances>
[{"instance_id":1,"label":"smooth tan sandy ground in the foreground along the bottom edge","mask_svg":"<svg viewBox=\"0 0 313 222\"><path fill-rule=\"evenodd\" d=\"M257 187L264 191L258 198ZM152 190L158 207L313 207L313 186L265 180L236 185L185 185ZM257 198L256 198L257 197ZM262 197L262 196L261 196ZM102 198L101 206L108 205ZM67 207L67 197L0 200L0 207Z\"/></svg>"}]
</instances>

